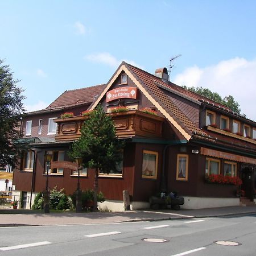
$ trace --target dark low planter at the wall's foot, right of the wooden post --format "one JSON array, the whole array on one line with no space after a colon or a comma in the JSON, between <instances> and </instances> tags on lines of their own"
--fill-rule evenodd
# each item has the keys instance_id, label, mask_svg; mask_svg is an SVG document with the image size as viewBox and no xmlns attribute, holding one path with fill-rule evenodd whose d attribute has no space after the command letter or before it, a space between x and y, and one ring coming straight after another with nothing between
<instances>
[{"instance_id":1,"label":"dark low planter at the wall's foot, right of the wooden post","mask_svg":"<svg viewBox=\"0 0 256 256\"><path fill-rule=\"evenodd\" d=\"M174 210L180 210L180 205L184 204L184 197L177 196L177 193L171 192L168 196L165 193L161 193L160 197L150 197L150 208L153 210L171 208ZM170 205L170 207L168 207Z\"/></svg>"}]
</instances>

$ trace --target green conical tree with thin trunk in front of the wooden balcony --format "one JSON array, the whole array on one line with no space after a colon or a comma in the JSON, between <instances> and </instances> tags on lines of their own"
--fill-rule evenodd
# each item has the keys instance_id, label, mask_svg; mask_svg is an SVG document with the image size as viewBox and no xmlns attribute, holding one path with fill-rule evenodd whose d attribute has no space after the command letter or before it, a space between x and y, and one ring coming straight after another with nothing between
<instances>
[{"instance_id":1,"label":"green conical tree with thin trunk in front of the wooden balcony","mask_svg":"<svg viewBox=\"0 0 256 256\"><path fill-rule=\"evenodd\" d=\"M117 139L112 118L104 113L100 105L93 110L81 127L81 137L73 142L72 159L82 158L84 167L95 169L94 207L97 209L98 171L110 173L122 160L124 143Z\"/></svg>"}]
</instances>

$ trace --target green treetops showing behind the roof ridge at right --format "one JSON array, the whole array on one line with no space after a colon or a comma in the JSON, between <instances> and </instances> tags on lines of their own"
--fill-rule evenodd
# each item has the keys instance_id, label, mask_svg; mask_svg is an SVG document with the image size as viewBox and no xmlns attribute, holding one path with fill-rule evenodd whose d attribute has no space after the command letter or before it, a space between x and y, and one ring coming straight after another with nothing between
<instances>
[{"instance_id":1,"label":"green treetops showing behind the roof ridge at right","mask_svg":"<svg viewBox=\"0 0 256 256\"><path fill-rule=\"evenodd\" d=\"M200 94L201 96L207 97L210 100L216 101L224 106L227 106L228 108L230 108L233 112L236 112L237 114L242 115L243 117L246 117L245 114L241 114L241 109L240 109L240 105L238 104L237 101L234 100L234 97L229 95L229 96L225 96L224 98L222 98L220 96L220 94L216 93L216 92L212 92L211 90L209 90L208 88L203 88L203 87L187 87L187 86L183 86L184 89L187 90L191 90L191 92L195 92Z\"/></svg>"}]
</instances>

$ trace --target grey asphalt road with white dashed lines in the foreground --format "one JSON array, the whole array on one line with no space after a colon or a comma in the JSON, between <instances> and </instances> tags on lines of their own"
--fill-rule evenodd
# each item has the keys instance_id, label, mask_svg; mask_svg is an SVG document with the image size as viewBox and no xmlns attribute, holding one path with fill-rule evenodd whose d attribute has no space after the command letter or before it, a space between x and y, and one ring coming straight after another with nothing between
<instances>
[{"instance_id":1,"label":"grey asphalt road with white dashed lines in the foreground","mask_svg":"<svg viewBox=\"0 0 256 256\"><path fill-rule=\"evenodd\" d=\"M119 224L2 227L0 238L0 255L9 256L250 256L255 255L256 214ZM167 241L146 242L144 238ZM239 245L217 245L215 241L232 241Z\"/></svg>"}]
</instances>

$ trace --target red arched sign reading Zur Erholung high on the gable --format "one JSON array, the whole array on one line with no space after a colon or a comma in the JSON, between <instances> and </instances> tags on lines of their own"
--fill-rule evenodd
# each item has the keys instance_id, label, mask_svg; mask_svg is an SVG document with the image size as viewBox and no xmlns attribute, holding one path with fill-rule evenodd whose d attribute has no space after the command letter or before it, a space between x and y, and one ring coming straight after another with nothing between
<instances>
[{"instance_id":1,"label":"red arched sign reading Zur Erholung high on the gable","mask_svg":"<svg viewBox=\"0 0 256 256\"><path fill-rule=\"evenodd\" d=\"M117 100L118 98L137 98L137 88L119 87L106 93L106 102Z\"/></svg>"}]
</instances>

